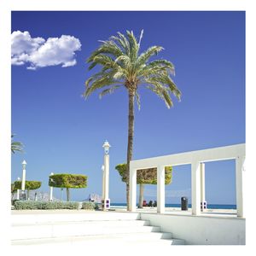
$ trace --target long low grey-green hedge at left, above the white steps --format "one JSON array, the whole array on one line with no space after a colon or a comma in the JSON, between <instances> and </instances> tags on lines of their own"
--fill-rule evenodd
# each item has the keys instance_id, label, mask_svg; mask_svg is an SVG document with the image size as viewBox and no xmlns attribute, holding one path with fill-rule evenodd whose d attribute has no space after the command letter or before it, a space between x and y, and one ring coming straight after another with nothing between
<instances>
[{"instance_id":1,"label":"long low grey-green hedge at left, above the white steps","mask_svg":"<svg viewBox=\"0 0 256 256\"><path fill-rule=\"evenodd\" d=\"M79 209L76 201L15 201L16 210Z\"/></svg>"}]
</instances>

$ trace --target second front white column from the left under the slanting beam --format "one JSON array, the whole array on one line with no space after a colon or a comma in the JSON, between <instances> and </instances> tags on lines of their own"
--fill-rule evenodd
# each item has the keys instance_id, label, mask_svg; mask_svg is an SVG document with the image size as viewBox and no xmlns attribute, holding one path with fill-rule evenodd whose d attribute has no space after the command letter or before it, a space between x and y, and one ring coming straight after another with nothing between
<instances>
[{"instance_id":1,"label":"second front white column from the left under the slanting beam","mask_svg":"<svg viewBox=\"0 0 256 256\"><path fill-rule=\"evenodd\" d=\"M165 166L157 166L157 212L165 212Z\"/></svg>"}]
</instances>

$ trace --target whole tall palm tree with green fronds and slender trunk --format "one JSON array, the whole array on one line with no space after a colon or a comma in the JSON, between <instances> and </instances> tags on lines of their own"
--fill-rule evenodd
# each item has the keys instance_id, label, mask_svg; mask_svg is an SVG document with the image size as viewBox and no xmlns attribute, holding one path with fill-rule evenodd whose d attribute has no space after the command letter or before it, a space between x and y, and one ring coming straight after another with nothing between
<instances>
[{"instance_id":1,"label":"whole tall palm tree with green fronds and slender trunk","mask_svg":"<svg viewBox=\"0 0 256 256\"><path fill-rule=\"evenodd\" d=\"M98 89L102 89L100 98L107 94L112 94L114 90L124 88L129 97L129 116L128 116L128 145L127 145L127 169L126 178L129 181L130 161L132 159L133 134L134 134L134 102L137 99L140 108L140 96L138 88L145 86L152 90L157 96L166 103L167 108L171 108L171 95L180 100L181 92L177 85L172 81L171 74L174 75L172 62L163 59L149 61L157 55L163 47L152 46L143 53L139 53L143 31L139 39L133 32L126 31L126 36L118 32L108 41L100 41L102 44L90 55L87 62L90 63L89 70L93 67L101 66L100 72L92 75L85 82L84 97ZM130 183L126 183L126 201L129 207Z\"/></svg>"}]
</instances>

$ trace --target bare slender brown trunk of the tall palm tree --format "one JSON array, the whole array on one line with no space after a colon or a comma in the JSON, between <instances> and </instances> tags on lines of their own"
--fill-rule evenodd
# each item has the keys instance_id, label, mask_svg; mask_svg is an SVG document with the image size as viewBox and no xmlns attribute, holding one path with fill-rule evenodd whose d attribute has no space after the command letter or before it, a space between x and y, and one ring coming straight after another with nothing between
<instances>
[{"instance_id":1,"label":"bare slender brown trunk of the tall palm tree","mask_svg":"<svg viewBox=\"0 0 256 256\"><path fill-rule=\"evenodd\" d=\"M129 119L128 119L128 146L127 146L127 169L126 169L126 203L130 210L130 161L132 159L133 132L134 132L134 92L129 91Z\"/></svg>"}]
</instances>

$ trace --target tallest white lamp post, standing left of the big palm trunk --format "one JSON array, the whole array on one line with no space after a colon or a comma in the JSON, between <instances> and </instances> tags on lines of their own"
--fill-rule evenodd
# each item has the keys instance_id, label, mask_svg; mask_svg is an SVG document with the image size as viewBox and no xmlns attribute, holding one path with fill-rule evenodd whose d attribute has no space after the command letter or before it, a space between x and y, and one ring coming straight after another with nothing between
<instances>
[{"instance_id":1,"label":"tallest white lamp post, standing left of the big palm trunk","mask_svg":"<svg viewBox=\"0 0 256 256\"><path fill-rule=\"evenodd\" d=\"M103 144L104 148L104 166L102 166L102 210L106 211L110 208L110 199L108 198L108 188L109 188L109 145L108 141Z\"/></svg>"}]
</instances>

